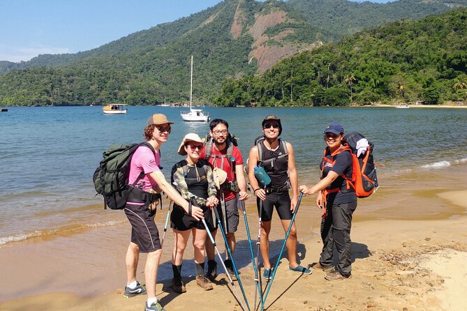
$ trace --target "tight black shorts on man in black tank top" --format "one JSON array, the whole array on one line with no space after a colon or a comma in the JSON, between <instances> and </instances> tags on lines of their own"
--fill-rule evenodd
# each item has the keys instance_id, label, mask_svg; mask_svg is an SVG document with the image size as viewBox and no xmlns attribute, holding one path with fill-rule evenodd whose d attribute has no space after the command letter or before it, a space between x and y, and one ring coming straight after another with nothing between
<instances>
[{"instance_id":1,"label":"tight black shorts on man in black tank top","mask_svg":"<svg viewBox=\"0 0 467 311\"><path fill-rule=\"evenodd\" d=\"M260 212L260 202L260 198L256 198L258 215ZM288 191L267 193L266 199L262 201L261 220L271 221L274 207L276 207L276 211L279 214L279 218L281 218L281 220L291 220L292 211L290 211L290 204L290 196L288 195Z\"/></svg>"}]
</instances>

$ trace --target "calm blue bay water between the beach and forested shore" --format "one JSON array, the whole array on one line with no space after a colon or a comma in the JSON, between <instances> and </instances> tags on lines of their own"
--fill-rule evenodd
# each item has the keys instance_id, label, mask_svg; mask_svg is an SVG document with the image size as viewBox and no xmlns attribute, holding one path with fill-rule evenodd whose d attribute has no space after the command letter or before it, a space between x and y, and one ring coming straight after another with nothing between
<instances>
[{"instance_id":1,"label":"calm blue bay water between the beach and forested shore","mask_svg":"<svg viewBox=\"0 0 467 311\"><path fill-rule=\"evenodd\" d=\"M346 132L362 132L384 165L378 174L408 169L467 165L467 109L389 108L207 108L227 119L230 132L248 157L261 134L266 114L280 116L283 139L292 143L299 183L316 181L323 153L323 130L332 121ZM101 223L103 211L95 197L92 174L102 151L111 144L142 141L147 117L164 113L175 121L162 147L162 166L181 160L177 148L188 132L204 136L207 123L185 123L180 109L129 107L126 115L104 115L101 107L13 107L0 114L0 245L57 228ZM109 213L105 213L107 217ZM108 219L105 225L111 225Z\"/></svg>"}]
</instances>

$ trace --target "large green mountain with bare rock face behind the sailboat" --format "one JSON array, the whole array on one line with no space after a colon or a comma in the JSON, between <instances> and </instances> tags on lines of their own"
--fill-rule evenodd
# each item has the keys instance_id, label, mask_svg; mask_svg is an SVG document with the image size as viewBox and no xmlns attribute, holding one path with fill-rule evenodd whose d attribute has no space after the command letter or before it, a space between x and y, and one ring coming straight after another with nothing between
<instances>
[{"instance_id":1,"label":"large green mountain with bare rock face behind the sailboat","mask_svg":"<svg viewBox=\"0 0 467 311\"><path fill-rule=\"evenodd\" d=\"M346 18L362 23L366 20L352 15L357 9L347 6L353 2L308 2L316 10L320 8L319 12L329 10L332 4L335 8L346 5L336 13L338 16L349 16ZM385 7L406 2L409 1L353 5L355 8ZM427 2L446 9L447 1ZM452 6L458 2L461 1L449 1ZM345 27L334 29L323 26L323 21L320 24L320 19L313 18L310 10L302 10L305 3L225 0L200 13L132 33L94 50L40 55L22 63L0 62L0 73L3 73L0 103L154 105L162 103L164 98L169 103L186 102L189 60L193 55L193 98L195 103L209 104L218 96L224 79L262 73L281 59L312 50L346 33Z\"/></svg>"}]
</instances>

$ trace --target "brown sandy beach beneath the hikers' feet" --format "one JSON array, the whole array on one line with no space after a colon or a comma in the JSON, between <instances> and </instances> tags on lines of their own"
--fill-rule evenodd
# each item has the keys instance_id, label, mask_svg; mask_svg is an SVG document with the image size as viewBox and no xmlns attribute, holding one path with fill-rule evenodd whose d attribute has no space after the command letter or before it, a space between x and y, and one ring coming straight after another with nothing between
<instances>
[{"instance_id":1,"label":"brown sandy beach beneath the hikers' feet","mask_svg":"<svg viewBox=\"0 0 467 311\"><path fill-rule=\"evenodd\" d=\"M467 168L462 166L417 172L410 179L381 176L383 186L375 195L360 199L354 214L352 278L332 283L324 280L320 271L312 275L290 273L288 261L283 258L265 303L267 310L464 310L466 174ZM322 247L320 211L313 201L314 197L305 197L297 215L298 252L304 266L318 260ZM254 242L258 218L253 199L247 209ZM160 226L165 212L158 214ZM273 263L284 236L274 220L270 250ZM242 215L239 228L235 259L253 305L254 278ZM128 236L129 225L124 222L47 240L36 238L3 245L0 310L142 309L145 296L125 299L122 295ZM223 273L214 290L197 287L191 247L186 250L182 271L188 292L170 292L170 229L166 238L157 290L167 310L241 310ZM220 250L223 252L222 247ZM144 256L140 261L138 279L144 280ZM236 287L240 292L237 283Z\"/></svg>"}]
</instances>

